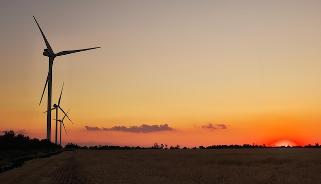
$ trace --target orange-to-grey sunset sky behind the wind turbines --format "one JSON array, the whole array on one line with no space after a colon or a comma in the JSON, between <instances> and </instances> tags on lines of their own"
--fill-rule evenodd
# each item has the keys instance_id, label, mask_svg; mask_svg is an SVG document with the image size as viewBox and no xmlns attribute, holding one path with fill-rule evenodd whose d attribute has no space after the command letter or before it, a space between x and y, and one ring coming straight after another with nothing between
<instances>
[{"instance_id":1,"label":"orange-to-grey sunset sky behind the wind turbines","mask_svg":"<svg viewBox=\"0 0 321 184\"><path fill-rule=\"evenodd\" d=\"M320 142L320 1L3 1L0 131L46 138L46 44L63 145ZM52 117L55 111L52 112ZM58 112L58 119L63 113ZM54 142L52 120L51 141Z\"/></svg>"}]
</instances>

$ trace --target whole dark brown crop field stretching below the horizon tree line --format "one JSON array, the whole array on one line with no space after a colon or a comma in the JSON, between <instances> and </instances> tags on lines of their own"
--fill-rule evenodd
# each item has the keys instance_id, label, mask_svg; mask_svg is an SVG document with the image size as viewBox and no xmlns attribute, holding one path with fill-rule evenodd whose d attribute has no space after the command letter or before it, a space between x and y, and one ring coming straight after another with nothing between
<instances>
[{"instance_id":1,"label":"whole dark brown crop field stretching below the horizon tree line","mask_svg":"<svg viewBox=\"0 0 321 184\"><path fill-rule=\"evenodd\" d=\"M1 183L321 183L321 149L75 150L26 162Z\"/></svg>"}]
</instances>

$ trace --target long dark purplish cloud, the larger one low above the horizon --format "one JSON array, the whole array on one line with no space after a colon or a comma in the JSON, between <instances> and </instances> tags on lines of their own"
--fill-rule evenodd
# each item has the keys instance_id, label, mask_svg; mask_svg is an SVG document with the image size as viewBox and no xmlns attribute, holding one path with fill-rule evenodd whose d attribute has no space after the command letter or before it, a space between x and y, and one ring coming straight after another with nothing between
<instances>
[{"instance_id":1,"label":"long dark purplish cloud, the larger one low above the horizon","mask_svg":"<svg viewBox=\"0 0 321 184\"><path fill-rule=\"evenodd\" d=\"M168 124L164 125L141 125L141 126L114 126L111 128L99 128L85 126L86 130L104 130L104 131L123 131L123 132L134 132L134 133L150 133L157 131L174 131L175 129L169 127Z\"/></svg>"}]
</instances>

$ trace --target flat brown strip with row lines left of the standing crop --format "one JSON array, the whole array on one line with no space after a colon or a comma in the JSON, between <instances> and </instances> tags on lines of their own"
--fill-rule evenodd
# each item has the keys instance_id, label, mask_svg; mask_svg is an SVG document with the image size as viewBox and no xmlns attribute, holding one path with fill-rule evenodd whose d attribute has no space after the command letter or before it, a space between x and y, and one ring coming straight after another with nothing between
<instances>
[{"instance_id":1,"label":"flat brown strip with row lines left of the standing crop","mask_svg":"<svg viewBox=\"0 0 321 184\"><path fill-rule=\"evenodd\" d=\"M27 161L0 174L1 183L86 183L73 162L74 151Z\"/></svg>"}]
</instances>

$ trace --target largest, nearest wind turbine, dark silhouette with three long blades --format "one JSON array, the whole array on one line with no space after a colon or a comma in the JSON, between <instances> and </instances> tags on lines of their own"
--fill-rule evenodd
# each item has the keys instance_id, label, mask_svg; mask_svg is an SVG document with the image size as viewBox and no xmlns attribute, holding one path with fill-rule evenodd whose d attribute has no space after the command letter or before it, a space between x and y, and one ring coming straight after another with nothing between
<instances>
[{"instance_id":1,"label":"largest, nearest wind turbine, dark silhouette with three long blades","mask_svg":"<svg viewBox=\"0 0 321 184\"><path fill-rule=\"evenodd\" d=\"M33 16L34 20L36 21L36 24L41 32L41 34L44 37L47 49L44 49L44 56L49 57L49 72L48 72L48 76L47 76L47 80L46 80L46 84L44 87L44 91L43 91L43 95L41 97L40 103L43 99L44 93L45 93L45 89L48 83L48 103L47 103L47 140L50 140L50 136L51 136L51 91L52 91L52 65L53 65L53 60L55 57L57 56L62 56L62 55L66 55L66 54L71 54L71 53L76 53L76 52L81 52L81 51L87 51L87 50L91 50L91 49L97 49L100 47L95 47L95 48L89 48L89 49L81 49L81 50L73 50L73 51L62 51L62 52L58 52L57 54L55 54L53 52L53 50L50 47L50 44L48 42L48 40L46 39L43 31L41 30L36 18Z\"/></svg>"}]
</instances>

